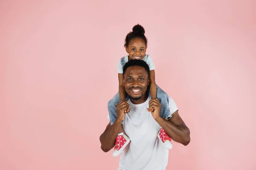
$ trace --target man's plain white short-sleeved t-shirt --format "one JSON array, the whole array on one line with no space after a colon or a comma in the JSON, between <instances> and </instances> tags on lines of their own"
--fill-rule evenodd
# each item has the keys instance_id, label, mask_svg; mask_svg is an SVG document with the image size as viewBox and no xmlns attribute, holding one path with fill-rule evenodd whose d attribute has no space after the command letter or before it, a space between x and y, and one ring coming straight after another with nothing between
<instances>
[{"instance_id":1,"label":"man's plain white short-sleeved t-shirt","mask_svg":"<svg viewBox=\"0 0 256 170\"><path fill-rule=\"evenodd\" d=\"M139 105L128 100L130 112L125 115L122 127L131 143L121 153L118 170L166 170L169 150L157 138L160 125L147 111L149 100L148 97L147 101ZM178 110L170 97L169 108L171 114Z\"/></svg>"}]
</instances>

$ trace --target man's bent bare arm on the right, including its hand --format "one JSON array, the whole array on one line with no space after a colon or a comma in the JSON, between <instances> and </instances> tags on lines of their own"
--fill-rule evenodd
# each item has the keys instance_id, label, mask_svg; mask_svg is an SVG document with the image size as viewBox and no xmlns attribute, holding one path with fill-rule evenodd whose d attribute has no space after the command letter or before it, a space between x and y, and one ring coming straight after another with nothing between
<instances>
[{"instance_id":1,"label":"man's bent bare arm on the right, including its hand","mask_svg":"<svg viewBox=\"0 0 256 170\"><path fill-rule=\"evenodd\" d=\"M172 117L169 120L163 119L160 116L161 103L158 99L151 99L149 107L153 107L154 111L151 112L157 123L166 131L166 133L175 142L183 145L188 145L190 142L190 131L181 119L178 111L172 113Z\"/></svg>"}]
</instances>

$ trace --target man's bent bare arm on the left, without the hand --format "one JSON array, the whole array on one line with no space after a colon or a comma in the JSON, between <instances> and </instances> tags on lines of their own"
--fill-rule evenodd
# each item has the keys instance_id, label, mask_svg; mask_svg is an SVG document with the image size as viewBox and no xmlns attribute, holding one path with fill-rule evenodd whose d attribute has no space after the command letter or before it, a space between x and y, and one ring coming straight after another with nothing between
<instances>
[{"instance_id":1,"label":"man's bent bare arm on the left, without the hand","mask_svg":"<svg viewBox=\"0 0 256 170\"><path fill-rule=\"evenodd\" d=\"M121 122L116 120L116 122L114 122L112 126L110 125L110 122L109 122L105 131L99 137L99 140L101 143L101 149L104 152L110 151L115 146L116 136L118 135L119 128L121 127Z\"/></svg>"}]
</instances>

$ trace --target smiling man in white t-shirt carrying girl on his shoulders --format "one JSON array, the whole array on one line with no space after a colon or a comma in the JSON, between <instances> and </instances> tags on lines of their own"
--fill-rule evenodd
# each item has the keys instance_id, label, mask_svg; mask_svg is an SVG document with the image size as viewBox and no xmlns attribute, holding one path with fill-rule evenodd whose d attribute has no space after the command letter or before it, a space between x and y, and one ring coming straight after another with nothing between
<instances>
[{"instance_id":1,"label":"smiling man in white t-shirt carrying girl on his shoulders","mask_svg":"<svg viewBox=\"0 0 256 170\"><path fill-rule=\"evenodd\" d=\"M162 127L173 141L187 145L190 131L178 114L175 102L169 98L172 116L166 120L160 116L161 104L147 93L149 84L149 67L142 60L128 61L123 67L123 83L130 96L128 101L116 105L116 122L107 125L100 136L101 148L108 152L115 146L116 136L122 126L131 142L122 152L118 170L166 170L169 150L157 139ZM129 108L129 105L130 108ZM154 108L149 112L147 108ZM125 113L125 110L130 110ZM121 122L123 121L123 124Z\"/></svg>"}]
</instances>

